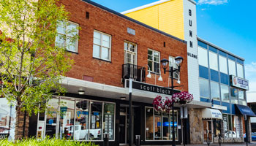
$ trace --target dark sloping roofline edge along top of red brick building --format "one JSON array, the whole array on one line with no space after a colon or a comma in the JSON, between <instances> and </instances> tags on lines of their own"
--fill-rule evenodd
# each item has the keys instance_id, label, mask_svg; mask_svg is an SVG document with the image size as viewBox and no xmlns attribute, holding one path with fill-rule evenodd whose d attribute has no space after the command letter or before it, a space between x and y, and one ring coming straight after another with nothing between
<instances>
[{"instance_id":1,"label":"dark sloping roofline edge along top of red brick building","mask_svg":"<svg viewBox=\"0 0 256 146\"><path fill-rule=\"evenodd\" d=\"M86 2L86 3L88 3L88 4L91 4L91 5L95 6L95 7L99 7L100 9L104 9L105 11L108 11L108 12L114 14L114 15L118 15L119 17L124 18L124 19L126 19L126 20L132 21L133 23L137 23L137 24L140 25L140 26L143 26L143 27L146 27L146 28L148 28L148 29L151 29L152 31L156 31L156 32L159 33L159 34L163 34L163 35L165 35L165 36L167 36L167 37L170 37L170 38L172 38L172 39L176 39L176 40L178 40L178 41L180 41L180 42L183 42L183 43L187 44L187 41L185 41L185 40L183 40L183 39L179 39L178 37L174 37L173 35L167 34L167 33L165 33L164 31L160 31L160 30L157 29L157 28L153 28L153 27L151 27L151 26L146 25L145 23L141 23L141 22L138 21L138 20L134 20L134 19L132 19L132 18L129 18L129 17L127 17L126 15L122 15L121 13L116 12L116 11L114 11L113 9L109 9L108 7L104 7L104 6L100 5L100 4L97 4L97 3L94 2L94 1L90 1L90 0L82 0L82 1L84 1L84 2Z\"/></svg>"}]
</instances>

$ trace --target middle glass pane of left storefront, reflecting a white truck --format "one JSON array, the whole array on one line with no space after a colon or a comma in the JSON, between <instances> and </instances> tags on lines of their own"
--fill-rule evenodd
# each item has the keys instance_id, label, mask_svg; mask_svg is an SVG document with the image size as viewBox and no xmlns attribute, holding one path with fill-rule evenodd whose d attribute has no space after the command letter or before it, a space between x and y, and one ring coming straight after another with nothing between
<instances>
[{"instance_id":1,"label":"middle glass pane of left storefront, reflecting a white truck","mask_svg":"<svg viewBox=\"0 0 256 146\"><path fill-rule=\"evenodd\" d=\"M89 140L89 101L76 101L75 140Z\"/></svg>"}]
</instances>

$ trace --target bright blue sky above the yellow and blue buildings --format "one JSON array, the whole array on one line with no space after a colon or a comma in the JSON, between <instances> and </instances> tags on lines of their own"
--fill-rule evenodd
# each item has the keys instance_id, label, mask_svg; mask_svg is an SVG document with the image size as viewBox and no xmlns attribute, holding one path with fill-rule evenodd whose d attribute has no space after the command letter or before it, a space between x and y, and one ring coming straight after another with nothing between
<instances>
[{"instance_id":1,"label":"bright blue sky above the yellow and blue buildings","mask_svg":"<svg viewBox=\"0 0 256 146\"><path fill-rule=\"evenodd\" d=\"M123 12L157 0L93 1L117 12ZM244 58L250 91L256 91L256 1L196 1L197 36Z\"/></svg>"}]
</instances>

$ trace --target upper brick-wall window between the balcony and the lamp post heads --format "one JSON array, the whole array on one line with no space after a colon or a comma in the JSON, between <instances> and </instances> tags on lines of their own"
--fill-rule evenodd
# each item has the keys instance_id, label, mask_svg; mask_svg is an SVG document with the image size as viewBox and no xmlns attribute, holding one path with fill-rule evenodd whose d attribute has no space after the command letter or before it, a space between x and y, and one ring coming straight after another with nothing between
<instances>
[{"instance_id":1,"label":"upper brick-wall window between the balcony and the lamp post heads","mask_svg":"<svg viewBox=\"0 0 256 146\"><path fill-rule=\"evenodd\" d=\"M148 49L148 71L158 73L160 72L160 53L155 50Z\"/></svg>"}]
</instances>

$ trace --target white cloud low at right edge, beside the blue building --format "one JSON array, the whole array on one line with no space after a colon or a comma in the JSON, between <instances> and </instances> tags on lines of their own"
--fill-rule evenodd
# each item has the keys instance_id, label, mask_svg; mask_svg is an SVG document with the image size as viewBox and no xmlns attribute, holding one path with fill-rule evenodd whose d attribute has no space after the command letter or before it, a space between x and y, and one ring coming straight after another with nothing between
<instances>
[{"instance_id":1,"label":"white cloud low at right edge, beside the blue building","mask_svg":"<svg viewBox=\"0 0 256 146\"><path fill-rule=\"evenodd\" d=\"M256 102L256 62L245 64L246 80L249 80L249 91L247 91L247 101Z\"/></svg>"}]
</instances>

